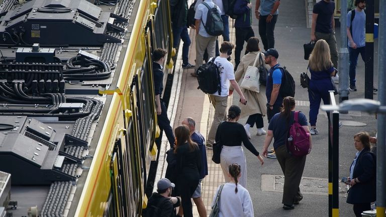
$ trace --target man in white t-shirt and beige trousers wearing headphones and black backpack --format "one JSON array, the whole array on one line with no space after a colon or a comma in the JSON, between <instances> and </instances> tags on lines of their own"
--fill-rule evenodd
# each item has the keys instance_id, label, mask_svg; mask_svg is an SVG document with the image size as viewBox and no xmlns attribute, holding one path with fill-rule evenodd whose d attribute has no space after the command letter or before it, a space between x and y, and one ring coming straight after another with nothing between
<instances>
[{"instance_id":1,"label":"man in white t-shirt and beige trousers wearing headphones and black backpack","mask_svg":"<svg viewBox=\"0 0 386 217\"><path fill-rule=\"evenodd\" d=\"M212 144L215 141L216 130L220 122L227 119L227 104L228 104L228 95L233 94L232 90L229 90L229 83L236 90L240 96L241 103L245 104L245 97L240 90L239 85L235 81L235 75L233 74L233 65L227 60L232 54L233 45L228 41L224 41L221 44L220 56L215 59L215 63L219 66L220 76L221 76L221 94L217 92L210 94L209 98L212 101L213 106L215 107L215 114L213 116L213 122L211 129L208 134L207 147L212 148Z\"/></svg>"}]
</instances>

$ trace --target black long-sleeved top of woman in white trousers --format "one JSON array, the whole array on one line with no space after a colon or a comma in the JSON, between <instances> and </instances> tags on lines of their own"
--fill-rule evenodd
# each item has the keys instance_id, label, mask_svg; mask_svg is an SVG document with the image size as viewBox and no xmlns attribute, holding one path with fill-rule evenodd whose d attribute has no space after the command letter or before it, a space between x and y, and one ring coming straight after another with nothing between
<instances>
[{"instance_id":1,"label":"black long-sleeved top of woman in white trousers","mask_svg":"<svg viewBox=\"0 0 386 217\"><path fill-rule=\"evenodd\" d=\"M220 141L223 146L241 146L241 142L243 142L245 148L255 156L259 156L259 152L248 139L245 128L241 123L221 122L217 128L216 141Z\"/></svg>"}]
</instances>

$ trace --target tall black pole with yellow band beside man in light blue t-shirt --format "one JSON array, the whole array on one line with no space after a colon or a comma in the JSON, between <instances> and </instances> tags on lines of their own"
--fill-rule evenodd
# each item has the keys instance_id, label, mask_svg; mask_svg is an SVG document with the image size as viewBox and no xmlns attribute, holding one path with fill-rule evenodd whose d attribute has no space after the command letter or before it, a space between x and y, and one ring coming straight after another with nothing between
<instances>
[{"instance_id":1,"label":"tall black pole with yellow band beside man in light blue t-shirt","mask_svg":"<svg viewBox=\"0 0 386 217\"><path fill-rule=\"evenodd\" d=\"M374 80L374 0L366 1L366 48L364 98L373 99Z\"/></svg>"}]
</instances>

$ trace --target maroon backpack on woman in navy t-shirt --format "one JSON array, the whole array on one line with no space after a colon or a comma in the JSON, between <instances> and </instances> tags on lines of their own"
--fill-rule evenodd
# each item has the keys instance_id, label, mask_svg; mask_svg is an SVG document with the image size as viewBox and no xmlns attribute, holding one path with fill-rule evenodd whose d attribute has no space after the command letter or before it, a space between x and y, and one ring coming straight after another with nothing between
<instances>
[{"instance_id":1,"label":"maroon backpack on woman in navy t-shirt","mask_svg":"<svg viewBox=\"0 0 386 217\"><path fill-rule=\"evenodd\" d=\"M299 112L294 113L294 123L289 126L285 141L288 153L295 157L308 155L310 149L310 133L299 124Z\"/></svg>"}]
</instances>

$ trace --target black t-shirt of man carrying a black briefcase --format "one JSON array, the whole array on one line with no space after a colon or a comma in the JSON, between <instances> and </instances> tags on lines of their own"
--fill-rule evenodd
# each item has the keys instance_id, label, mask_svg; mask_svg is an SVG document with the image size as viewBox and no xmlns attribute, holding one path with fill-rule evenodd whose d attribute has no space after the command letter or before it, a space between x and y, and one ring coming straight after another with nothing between
<instances>
[{"instance_id":1,"label":"black t-shirt of man carrying a black briefcase","mask_svg":"<svg viewBox=\"0 0 386 217\"><path fill-rule=\"evenodd\" d=\"M312 13L318 14L316 19L315 32L332 33L332 15L334 14L335 3L324 0L314 5Z\"/></svg>"}]
</instances>

